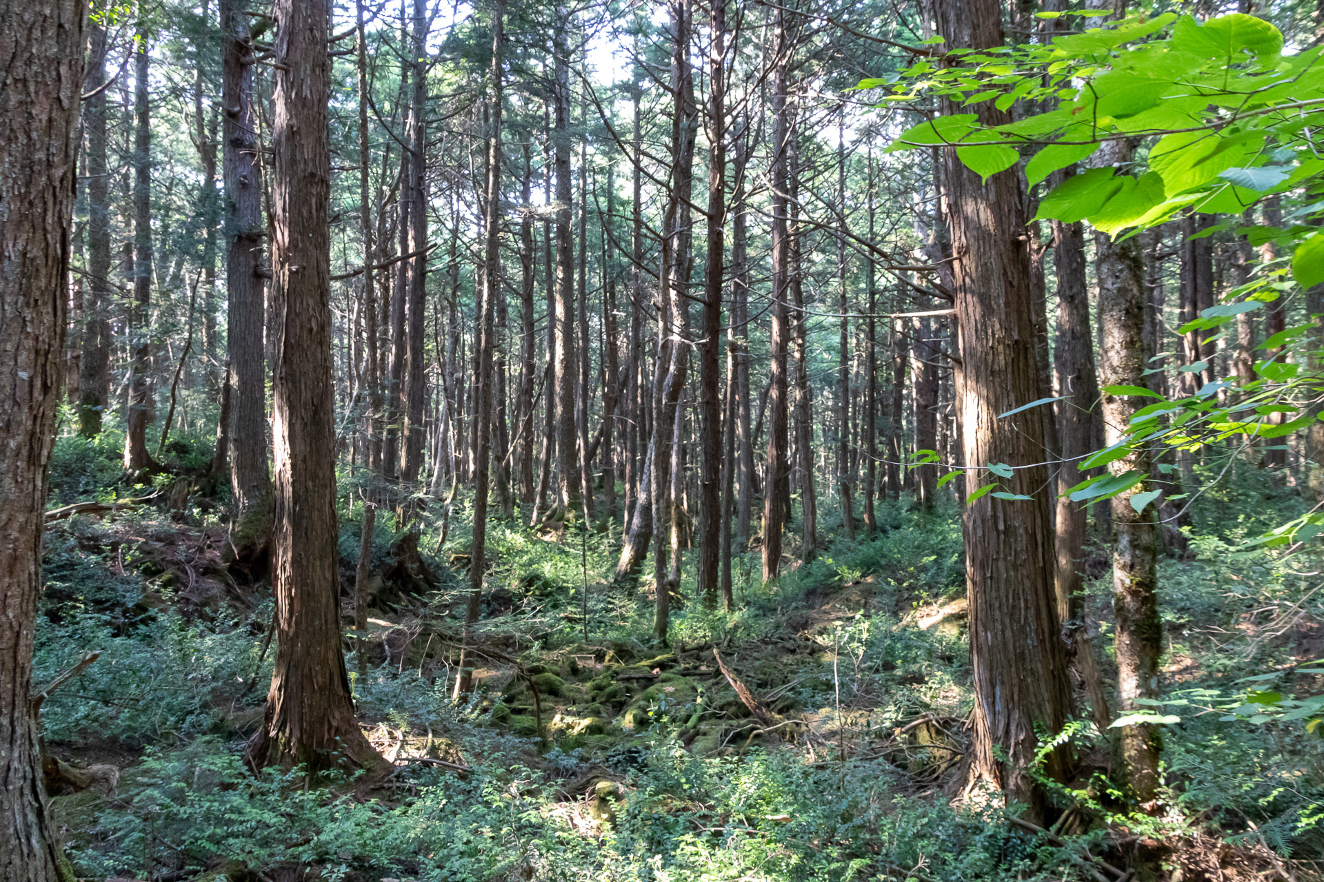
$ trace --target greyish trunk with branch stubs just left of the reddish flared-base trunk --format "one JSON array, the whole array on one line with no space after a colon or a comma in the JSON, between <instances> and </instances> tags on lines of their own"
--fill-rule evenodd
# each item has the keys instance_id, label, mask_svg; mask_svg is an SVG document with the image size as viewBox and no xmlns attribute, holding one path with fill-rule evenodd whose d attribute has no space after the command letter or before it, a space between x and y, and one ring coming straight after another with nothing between
<instances>
[{"instance_id":1,"label":"greyish trunk with branch stubs just left of the reddish flared-base trunk","mask_svg":"<svg viewBox=\"0 0 1324 882\"><path fill-rule=\"evenodd\" d=\"M221 0L221 167L225 177L226 349L230 383L230 491L233 551L242 566L266 569L271 532L267 471L263 308L262 176L253 106L253 38L240 0Z\"/></svg>"}]
</instances>

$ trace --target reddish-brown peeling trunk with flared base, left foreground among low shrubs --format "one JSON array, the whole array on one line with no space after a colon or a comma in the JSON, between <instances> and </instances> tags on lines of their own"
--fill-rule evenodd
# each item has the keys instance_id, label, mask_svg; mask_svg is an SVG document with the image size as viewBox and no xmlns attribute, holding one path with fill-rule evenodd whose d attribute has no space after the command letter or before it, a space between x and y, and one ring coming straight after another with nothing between
<instances>
[{"instance_id":1,"label":"reddish-brown peeling trunk with flared base, left foreground among low shrubs","mask_svg":"<svg viewBox=\"0 0 1324 882\"><path fill-rule=\"evenodd\" d=\"M340 649L331 376L330 0L277 0L271 126L273 294L283 317L275 365L277 651L254 764L310 772L381 758L354 717Z\"/></svg>"}]
</instances>

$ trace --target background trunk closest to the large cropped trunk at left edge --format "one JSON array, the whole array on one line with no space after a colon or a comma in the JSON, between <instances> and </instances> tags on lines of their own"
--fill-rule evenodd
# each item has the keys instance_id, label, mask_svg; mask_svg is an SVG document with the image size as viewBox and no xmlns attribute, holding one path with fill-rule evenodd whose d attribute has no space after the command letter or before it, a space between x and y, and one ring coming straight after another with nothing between
<instances>
[{"instance_id":1,"label":"background trunk closest to the large cropped trunk at left edge","mask_svg":"<svg viewBox=\"0 0 1324 882\"><path fill-rule=\"evenodd\" d=\"M95 438L110 405L110 171L106 164L106 26L93 22L83 90L87 135L87 298L78 362L78 434Z\"/></svg>"}]
</instances>

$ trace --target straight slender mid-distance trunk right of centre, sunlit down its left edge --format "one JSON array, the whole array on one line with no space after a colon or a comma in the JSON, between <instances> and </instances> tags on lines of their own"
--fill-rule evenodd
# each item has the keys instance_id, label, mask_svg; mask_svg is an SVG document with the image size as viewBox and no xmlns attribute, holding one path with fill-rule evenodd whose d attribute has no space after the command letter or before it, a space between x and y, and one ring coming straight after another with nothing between
<instances>
[{"instance_id":1,"label":"straight slender mid-distance trunk right of centre, sunlit down its left edge","mask_svg":"<svg viewBox=\"0 0 1324 882\"><path fill-rule=\"evenodd\" d=\"M768 398L768 480L763 497L763 581L781 573L781 528L784 501L790 496L790 464L786 424L786 342L790 242L788 241L788 198L790 151L790 119L786 107L789 85L790 38L786 13L781 7L773 11L773 81L772 81L772 333L768 346L772 360L772 386Z\"/></svg>"}]
</instances>

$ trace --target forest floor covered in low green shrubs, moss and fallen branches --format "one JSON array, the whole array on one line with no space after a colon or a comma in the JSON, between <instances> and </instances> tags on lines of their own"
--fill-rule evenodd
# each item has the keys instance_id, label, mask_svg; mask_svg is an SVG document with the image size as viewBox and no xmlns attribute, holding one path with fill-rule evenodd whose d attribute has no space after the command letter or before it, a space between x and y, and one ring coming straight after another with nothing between
<instances>
[{"instance_id":1,"label":"forest floor covered in low green shrubs, moss and fallen branches","mask_svg":"<svg viewBox=\"0 0 1324 882\"><path fill-rule=\"evenodd\" d=\"M1242 502L1229 491L1207 514ZM444 561L462 566L459 532L430 559L437 590L377 578L368 632L347 631L361 725L395 774L322 787L244 767L271 603L262 579L226 567L222 525L150 508L54 522L36 680L101 653L42 710L49 752L97 770L91 788L53 797L70 856L98 882L1320 878L1324 741L1207 710L1260 672L1324 692L1324 677L1294 674L1324 655L1319 603L1291 577L1301 561L1237 553L1235 536L1197 521L1190 551L1162 565L1180 715L1165 726L1164 813L1125 812L1107 738L1079 722L1061 734L1079 758L1054 791L1066 811L1035 830L960 787L972 697L957 512L879 514L873 537L788 557L776 584L740 557L730 615L682 586L667 647L645 636L650 584L606 581L605 536L495 524L478 688L453 702L465 578ZM377 538L381 574L389 529ZM1106 569L1095 551L1103 637Z\"/></svg>"}]
</instances>

